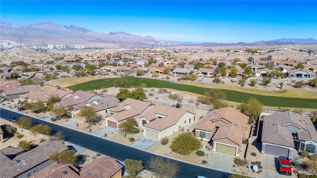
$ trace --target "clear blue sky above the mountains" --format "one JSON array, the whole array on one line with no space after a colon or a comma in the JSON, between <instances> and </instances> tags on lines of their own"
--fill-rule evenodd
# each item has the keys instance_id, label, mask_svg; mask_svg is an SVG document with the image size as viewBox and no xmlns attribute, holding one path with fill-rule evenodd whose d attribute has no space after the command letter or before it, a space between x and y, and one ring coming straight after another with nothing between
<instances>
[{"instance_id":1,"label":"clear blue sky above the mountains","mask_svg":"<svg viewBox=\"0 0 317 178\"><path fill-rule=\"evenodd\" d=\"M0 1L0 20L56 22L160 40L237 43L317 39L317 1Z\"/></svg>"}]
</instances>

